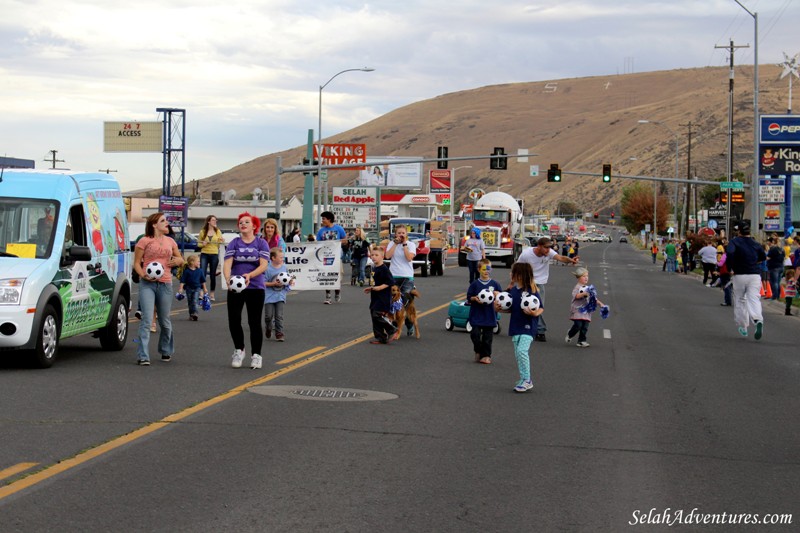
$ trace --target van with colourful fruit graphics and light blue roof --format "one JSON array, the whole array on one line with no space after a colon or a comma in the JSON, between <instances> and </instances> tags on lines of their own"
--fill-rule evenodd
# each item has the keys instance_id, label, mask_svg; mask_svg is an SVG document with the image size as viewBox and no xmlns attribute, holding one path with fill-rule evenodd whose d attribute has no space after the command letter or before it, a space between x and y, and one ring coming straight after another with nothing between
<instances>
[{"instance_id":1,"label":"van with colourful fruit graphics and light blue roof","mask_svg":"<svg viewBox=\"0 0 800 533\"><path fill-rule=\"evenodd\" d=\"M128 339L131 252L125 206L108 174L0 170L0 352L53 365L62 339Z\"/></svg>"}]
</instances>

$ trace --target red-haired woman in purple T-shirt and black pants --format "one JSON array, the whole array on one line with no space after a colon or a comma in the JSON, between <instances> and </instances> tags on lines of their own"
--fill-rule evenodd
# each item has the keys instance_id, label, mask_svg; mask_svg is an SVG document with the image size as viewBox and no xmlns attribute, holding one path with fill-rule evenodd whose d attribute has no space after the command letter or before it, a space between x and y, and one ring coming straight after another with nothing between
<instances>
[{"instance_id":1,"label":"red-haired woman in purple T-shirt and black pants","mask_svg":"<svg viewBox=\"0 0 800 533\"><path fill-rule=\"evenodd\" d=\"M232 276L242 276L245 288L241 292L228 291L228 329L233 340L231 366L241 368L245 358L242 310L247 308L247 324L250 326L250 367L261 368L261 314L264 311L264 272L269 263L267 241L258 236L261 221L248 212L239 215L239 236L225 249L223 275L231 286Z\"/></svg>"}]
</instances>

